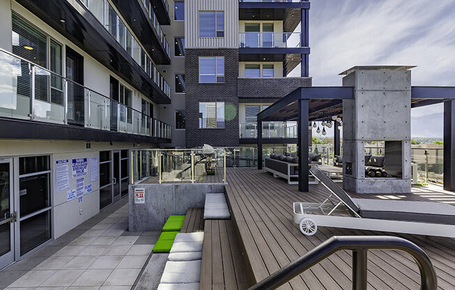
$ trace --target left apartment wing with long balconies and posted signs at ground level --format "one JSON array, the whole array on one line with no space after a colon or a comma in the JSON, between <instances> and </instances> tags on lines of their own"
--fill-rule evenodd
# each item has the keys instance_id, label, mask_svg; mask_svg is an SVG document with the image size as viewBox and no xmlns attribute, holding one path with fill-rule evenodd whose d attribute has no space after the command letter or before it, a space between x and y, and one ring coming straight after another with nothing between
<instances>
[{"instance_id":1,"label":"left apartment wing with long balconies and posted signs at ground level","mask_svg":"<svg viewBox=\"0 0 455 290\"><path fill-rule=\"evenodd\" d=\"M131 149L172 145L169 11L0 1L0 268L126 196Z\"/></svg>"}]
</instances>

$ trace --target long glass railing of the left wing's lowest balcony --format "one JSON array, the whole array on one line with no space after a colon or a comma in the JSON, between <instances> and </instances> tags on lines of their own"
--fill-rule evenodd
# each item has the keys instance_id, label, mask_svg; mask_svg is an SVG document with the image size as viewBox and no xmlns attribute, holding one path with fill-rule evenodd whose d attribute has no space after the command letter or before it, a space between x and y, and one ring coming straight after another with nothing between
<instances>
[{"instance_id":1,"label":"long glass railing of the left wing's lowest balcony","mask_svg":"<svg viewBox=\"0 0 455 290\"><path fill-rule=\"evenodd\" d=\"M170 139L170 125L0 50L0 116Z\"/></svg>"}]
</instances>

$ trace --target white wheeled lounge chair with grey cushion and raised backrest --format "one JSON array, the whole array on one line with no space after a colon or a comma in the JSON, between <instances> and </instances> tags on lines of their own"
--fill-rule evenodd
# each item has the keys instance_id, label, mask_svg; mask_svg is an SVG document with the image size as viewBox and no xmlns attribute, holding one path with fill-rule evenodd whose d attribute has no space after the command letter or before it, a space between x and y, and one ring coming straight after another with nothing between
<instances>
[{"instance_id":1,"label":"white wheeled lounge chair with grey cushion and raised backrest","mask_svg":"<svg viewBox=\"0 0 455 290\"><path fill-rule=\"evenodd\" d=\"M294 202L294 222L307 236L322 226L455 238L455 206L430 201L352 199L316 165L310 171L331 194L320 204Z\"/></svg>"}]
</instances>

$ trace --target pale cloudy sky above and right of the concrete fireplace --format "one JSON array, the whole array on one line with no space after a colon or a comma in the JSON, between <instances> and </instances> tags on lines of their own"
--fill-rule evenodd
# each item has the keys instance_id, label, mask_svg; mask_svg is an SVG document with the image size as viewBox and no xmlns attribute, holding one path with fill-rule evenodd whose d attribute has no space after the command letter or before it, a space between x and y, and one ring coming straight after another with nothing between
<instances>
[{"instance_id":1,"label":"pale cloudy sky above and right of the concrete fireplace","mask_svg":"<svg viewBox=\"0 0 455 290\"><path fill-rule=\"evenodd\" d=\"M455 86L454 15L454 0L311 1L313 86L341 86L338 73L374 65L417 66L413 86ZM442 111L412 109L412 137L442 137Z\"/></svg>"}]
</instances>

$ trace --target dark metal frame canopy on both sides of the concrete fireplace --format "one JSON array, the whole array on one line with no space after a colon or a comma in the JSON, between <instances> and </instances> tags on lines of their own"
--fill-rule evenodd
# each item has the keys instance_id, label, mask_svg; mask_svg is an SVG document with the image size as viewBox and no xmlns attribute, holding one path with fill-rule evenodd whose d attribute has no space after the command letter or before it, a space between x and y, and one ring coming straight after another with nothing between
<instances>
[{"instance_id":1,"label":"dark metal frame canopy on both sides of the concrete fireplace","mask_svg":"<svg viewBox=\"0 0 455 290\"><path fill-rule=\"evenodd\" d=\"M365 68L368 67L355 66L341 75ZM387 66L384 68L396 70L412 67ZM308 192L309 167L308 162L303 162L308 160L308 123L343 114L343 100L353 99L354 93L354 88L350 86L301 87L260 112L258 114L258 169L262 169L262 122L297 121L299 191ZM444 102L444 189L455 191L455 86L411 87L412 107L433 105L438 102ZM334 127L334 130L337 130L337 126ZM338 134L339 132L335 132L335 135Z\"/></svg>"}]
</instances>

